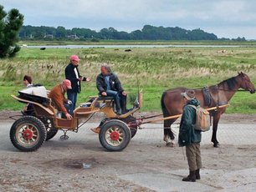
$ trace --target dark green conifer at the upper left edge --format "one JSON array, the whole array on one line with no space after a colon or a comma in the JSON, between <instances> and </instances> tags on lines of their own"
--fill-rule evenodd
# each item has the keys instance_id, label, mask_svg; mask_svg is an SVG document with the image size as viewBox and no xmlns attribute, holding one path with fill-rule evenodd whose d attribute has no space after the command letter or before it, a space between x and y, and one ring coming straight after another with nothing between
<instances>
[{"instance_id":1,"label":"dark green conifer at the upper left edge","mask_svg":"<svg viewBox=\"0 0 256 192\"><path fill-rule=\"evenodd\" d=\"M13 57L20 50L18 33L23 26L23 15L13 8L8 13L0 5L0 58Z\"/></svg>"}]
</instances>

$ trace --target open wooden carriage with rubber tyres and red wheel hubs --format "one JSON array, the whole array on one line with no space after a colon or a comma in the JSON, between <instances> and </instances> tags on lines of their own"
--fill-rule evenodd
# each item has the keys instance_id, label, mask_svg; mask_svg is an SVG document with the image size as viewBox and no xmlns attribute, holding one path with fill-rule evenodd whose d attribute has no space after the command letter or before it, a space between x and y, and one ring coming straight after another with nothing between
<instances>
[{"instance_id":1,"label":"open wooden carriage with rubber tyres and red wheel hubs","mask_svg":"<svg viewBox=\"0 0 256 192\"><path fill-rule=\"evenodd\" d=\"M90 97L87 102L74 109L73 119L61 117L59 111L51 104L51 99L47 97L48 93L45 88L25 88L18 93L18 96L12 95L13 99L23 104L30 104L33 109L32 114L23 114L20 119L17 119L10 131L13 145L22 151L38 149L45 140L52 139L59 130L64 131L64 136L67 131L78 132L79 127L95 113L105 114L105 119L102 119L99 125L99 139L105 149L125 149L131 136L136 134L137 126L135 124L130 126L129 123L136 121L132 114L141 108L142 93L138 95L136 106L121 115L116 115L114 112L113 98ZM131 128L133 135L131 135ZM112 132L116 132L115 135ZM107 135L109 140L106 139ZM120 138L120 135L125 136Z\"/></svg>"}]
</instances>

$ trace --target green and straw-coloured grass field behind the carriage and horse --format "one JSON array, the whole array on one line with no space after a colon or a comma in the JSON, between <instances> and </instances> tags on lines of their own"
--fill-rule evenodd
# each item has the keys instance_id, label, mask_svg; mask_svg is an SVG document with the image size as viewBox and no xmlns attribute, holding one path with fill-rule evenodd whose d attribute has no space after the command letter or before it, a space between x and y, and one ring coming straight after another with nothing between
<instances>
[{"instance_id":1,"label":"green and straw-coloured grass field behind the carriage and horse","mask_svg":"<svg viewBox=\"0 0 256 192\"><path fill-rule=\"evenodd\" d=\"M53 88L64 79L69 55L78 54L79 71L91 77L82 84L79 103L96 95L95 78L100 65L109 63L118 74L125 90L134 98L143 89L142 111L161 111L161 93L169 88L202 88L219 83L243 71L256 83L256 48L22 48L16 58L0 60L0 110L19 110L23 104L10 97L23 88L23 75L33 77L33 83ZM225 49L225 53L218 53ZM254 114L256 94L238 92L231 100L228 113Z\"/></svg>"}]
</instances>

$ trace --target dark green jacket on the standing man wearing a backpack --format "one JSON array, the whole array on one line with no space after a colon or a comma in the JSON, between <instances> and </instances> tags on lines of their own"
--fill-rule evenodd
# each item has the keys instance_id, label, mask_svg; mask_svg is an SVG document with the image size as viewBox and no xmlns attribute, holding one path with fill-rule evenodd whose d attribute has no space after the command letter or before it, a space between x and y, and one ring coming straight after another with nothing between
<instances>
[{"instance_id":1,"label":"dark green jacket on the standing man wearing a backpack","mask_svg":"<svg viewBox=\"0 0 256 192\"><path fill-rule=\"evenodd\" d=\"M202 139L201 131L194 129L192 126L196 123L196 109L188 106L188 104L198 106L200 102L197 99L192 99L183 108L178 139L180 147L199 143Z\"/></svg>"}]
</instances>

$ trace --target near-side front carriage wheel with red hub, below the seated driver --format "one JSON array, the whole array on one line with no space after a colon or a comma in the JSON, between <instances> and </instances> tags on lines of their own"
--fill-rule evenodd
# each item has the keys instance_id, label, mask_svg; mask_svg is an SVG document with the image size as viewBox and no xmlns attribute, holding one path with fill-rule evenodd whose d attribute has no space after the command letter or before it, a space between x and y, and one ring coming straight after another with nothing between
<instances>
[{"instance_id":1,"label":"near-side front carriage wheel with red hub, below the seated driver","mask_svg":"<svg viewBox=\"0 0 256 192\"><path fill-rule=\"evenodd\" d=\"M105 149L120 151L129 144L131 131L124 122L113 119L101 126L99 139Z\"/></svg>"}]
</instances>

